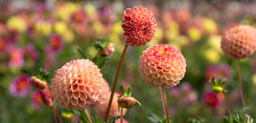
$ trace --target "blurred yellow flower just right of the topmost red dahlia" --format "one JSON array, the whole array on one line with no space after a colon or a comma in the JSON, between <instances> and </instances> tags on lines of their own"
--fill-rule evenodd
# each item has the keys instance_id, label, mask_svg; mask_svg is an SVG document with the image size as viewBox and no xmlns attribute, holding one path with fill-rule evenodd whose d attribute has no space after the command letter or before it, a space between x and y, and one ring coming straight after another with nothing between
<instances>
[{"instance_id":1,"label":"blurred yellow flower just right of the topmost red dahlia","mask_svg":"<svg viewBox=\"0 0 256 123\"><path fill-rule=\"evenodd\" d=\"M179 25L176 22L171 22L169 25L169 28L166 30L166 38L168 40L173 40L178 35L179 35Z\"/></svg>"}]
</instances>

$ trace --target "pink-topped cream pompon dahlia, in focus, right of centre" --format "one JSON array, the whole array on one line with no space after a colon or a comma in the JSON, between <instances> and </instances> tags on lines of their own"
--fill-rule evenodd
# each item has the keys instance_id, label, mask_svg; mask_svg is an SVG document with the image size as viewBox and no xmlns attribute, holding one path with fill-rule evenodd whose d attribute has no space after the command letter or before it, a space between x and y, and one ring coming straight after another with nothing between
<instances>
[{"instance_id":1,"label":"pink-topped cream pompon dahlia, in focus, right of centre","mask_svg":"<svg viewBox=\"0 0 256 123\"><path fill-rule=\"evenodd\" d=\"M186 72L186 60L179 50L168 45L153 45L139 58L139 73L146 84L170 88L180 83Z\"/></svg>"}]
</instances>

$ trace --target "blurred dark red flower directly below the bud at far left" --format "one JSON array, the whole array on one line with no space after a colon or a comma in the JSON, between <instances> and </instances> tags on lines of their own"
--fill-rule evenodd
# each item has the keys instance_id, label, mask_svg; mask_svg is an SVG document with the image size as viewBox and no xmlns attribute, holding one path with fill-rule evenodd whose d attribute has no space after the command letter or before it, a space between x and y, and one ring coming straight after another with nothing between
<instances>
[{"instance_id":1,"label":"blurred dark red flower directly below the bud at far left","mask_svg":"<svg viewBox=\"0 0 256 123\"><path fill-rule=\"evenodd\" d=\"M33 92L31 95L31 106L34 109L38 109L40 104L42 104L41 92L40 91Z\"/></svg>"}]
</instances>

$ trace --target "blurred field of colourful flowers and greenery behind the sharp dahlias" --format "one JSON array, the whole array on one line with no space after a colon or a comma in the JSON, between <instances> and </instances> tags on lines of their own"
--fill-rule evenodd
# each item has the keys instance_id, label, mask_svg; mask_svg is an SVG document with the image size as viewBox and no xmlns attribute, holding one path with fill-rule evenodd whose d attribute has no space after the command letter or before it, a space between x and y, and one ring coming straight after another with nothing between
<instances>
[{"instance_id":1,"label":"blurred field of colourful flowers and greenery behind the sharp dahlias","mask_svg":"<svg viewBox=\"0 0 256 123\"><path fill-rule=\"evenodd\" d=\"M89 56L97 54L92 42L98 37L115 44L101 71L112 88L125 45L123 11L139 5L153 11L157 31L150 43L129 47L125 56L117 88L130 85L142 104L127 111L127 121L149 122L148 114L162 115L158 88L147 86L138 73L142 51L157 44L179 49L187 64L181 83L166 90L172 122L188 122L189 117L222 122L227 115L224 97L211 92L212 76L226 79L231 112L240 112L237 60L223 54L221 34L239 24L255 27L255 1L0 0L0 122L54 122L52 108L43 105L29 77L42 67L50 71L50 84L58 68L81 58L77 48ZM247 114L256 119L256 55L241 60L241 72ZM91 113L96 116L93 108Z\"/></svg>"}]
</instances>

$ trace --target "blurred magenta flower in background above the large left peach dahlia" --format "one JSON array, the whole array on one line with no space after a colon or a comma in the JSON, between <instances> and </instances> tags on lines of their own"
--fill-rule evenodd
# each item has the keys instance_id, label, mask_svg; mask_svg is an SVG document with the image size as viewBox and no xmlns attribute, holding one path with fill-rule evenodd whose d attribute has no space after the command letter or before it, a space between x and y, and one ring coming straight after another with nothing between
<instances>
[{"instance_id":1,"label":"blurred magenta flower in background above the large left peach dahlia","mask_svg":"<svg viewBox=\"0 0 256 123\"><path fill-rule=\"evenodd\" d=\"M48 37L49 46L53 49L53 51L58 52L62 46L62 39L57 34L52 34Z\"/></svg>"}]
</instances>

